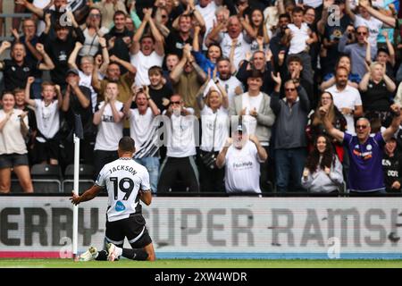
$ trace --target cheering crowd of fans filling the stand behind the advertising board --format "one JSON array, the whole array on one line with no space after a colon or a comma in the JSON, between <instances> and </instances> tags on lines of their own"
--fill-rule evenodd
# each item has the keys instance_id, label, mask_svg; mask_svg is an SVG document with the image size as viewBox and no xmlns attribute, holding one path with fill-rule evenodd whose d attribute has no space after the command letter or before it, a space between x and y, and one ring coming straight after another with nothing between
<instances>
[{"instance_id":1,"label":"cheering crowd of fans filling the stand behind the advertising board","mask_svg":"<svg viewBox=\"0 0 402 286\"><path fill-rule=\"evenodd\" d=\"M80 163L130 135L155 194L401 191L399 1L14 2L2 193L73 164L75 114Z\"/></svg>"}]
</instances>

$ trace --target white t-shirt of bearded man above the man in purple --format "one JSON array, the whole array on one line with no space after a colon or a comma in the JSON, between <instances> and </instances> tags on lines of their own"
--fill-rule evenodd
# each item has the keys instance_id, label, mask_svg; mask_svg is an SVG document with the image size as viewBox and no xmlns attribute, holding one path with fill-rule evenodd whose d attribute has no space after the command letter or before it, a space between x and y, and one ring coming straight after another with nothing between
<instances>
[{"instance_id":1,"label":"white t-shirt of bearded man above the man in purple","mask_svg":"<svg viewBox=\"0 0 402 286\"><path fill-rule=\"evenodd\" d=\"M362 98L360 97L359 91L351 86L347 85L345 89L339 91L337 86L333 85L325 91L331 92L333 104L338 107L339 111L344 107L355 110L355 106L362 105ZM353 114L344 114L343 116L345 116L348 123L348 132L355 135L355 119Z\"/></svg>"}]
</instances>

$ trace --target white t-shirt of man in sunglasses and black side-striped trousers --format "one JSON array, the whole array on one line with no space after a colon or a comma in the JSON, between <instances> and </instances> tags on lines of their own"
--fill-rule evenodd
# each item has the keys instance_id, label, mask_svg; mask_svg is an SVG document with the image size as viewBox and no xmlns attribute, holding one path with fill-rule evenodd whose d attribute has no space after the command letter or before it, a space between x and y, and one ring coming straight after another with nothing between
<instances>
[{"instance_id":1,"label":"white t-shirt of man in sunglasses and black side-striped trousers","mask_svg":"<svg viewBox=\"0 0 402 286\"><path fill-rule=\"evenodd\" d=\"M183 158L195 156L196 152L196 134L195 125L198 120L194 116L194 109L186 107L190 113L187 116L171 116L171 130L168 132L168 146L166 155L170 157ZM163 111L165 114L166 111Z\"/></svg>"}]
</instances>

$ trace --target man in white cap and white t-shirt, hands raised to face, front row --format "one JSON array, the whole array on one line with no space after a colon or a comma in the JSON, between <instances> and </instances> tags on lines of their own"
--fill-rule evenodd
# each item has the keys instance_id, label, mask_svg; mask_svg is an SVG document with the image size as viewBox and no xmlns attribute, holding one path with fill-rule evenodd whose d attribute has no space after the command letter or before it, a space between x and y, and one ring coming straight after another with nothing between
<instances>
[{"instance_id":1,"label":"man in white cap and white t-shirt, hands raised to face, front row","mask_svg":"<svg viewBox=\"0 0 402 286\"><path fill-rule=\"evenodd\" d=\"M231 138L216 159L218 168L226 165L225 188L231 195L260 194L260 164L268 158L264 147L254 135L247 135L244 125L232 131Z\"/></svg>"}]
</instances>

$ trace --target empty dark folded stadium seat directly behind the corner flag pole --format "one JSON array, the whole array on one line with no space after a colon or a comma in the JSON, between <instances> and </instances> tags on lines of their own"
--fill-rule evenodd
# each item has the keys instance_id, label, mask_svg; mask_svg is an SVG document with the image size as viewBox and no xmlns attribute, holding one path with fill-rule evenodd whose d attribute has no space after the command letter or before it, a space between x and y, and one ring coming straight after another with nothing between
<instances>
[{"instance_id":1,"label":"empty dark folded stadium seat directly behind the corner flag pole","mask_svg":"<svg viewBox=\"0 0 402 286\"><path fill-rule=\"evenodd\" d=\"M89 189L94 185L94 167L90 164L80 164L80 192ZM71 193L74 186L74 164L69 164L64 172L63 192Z\"/></svg>"}]
</instances>

